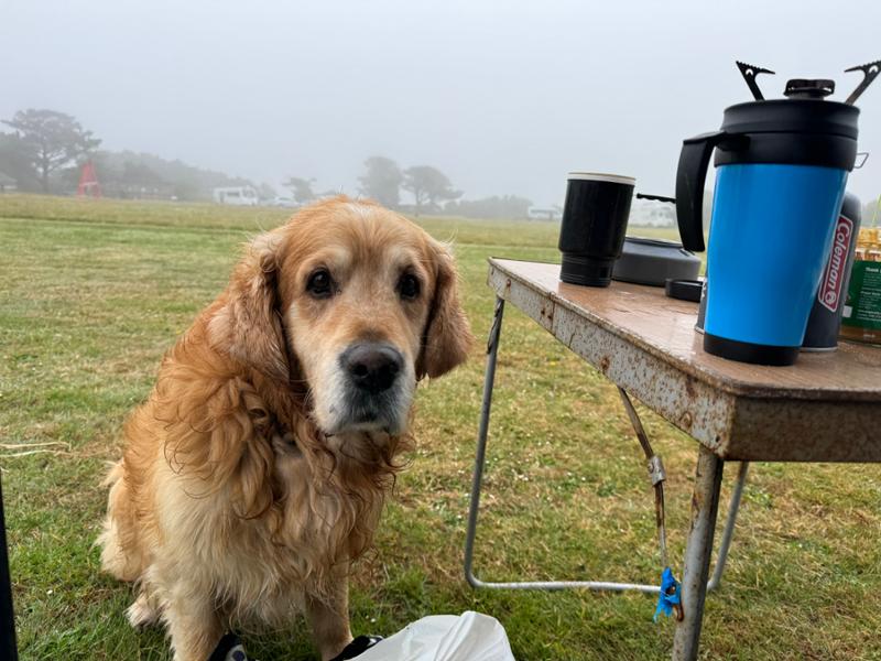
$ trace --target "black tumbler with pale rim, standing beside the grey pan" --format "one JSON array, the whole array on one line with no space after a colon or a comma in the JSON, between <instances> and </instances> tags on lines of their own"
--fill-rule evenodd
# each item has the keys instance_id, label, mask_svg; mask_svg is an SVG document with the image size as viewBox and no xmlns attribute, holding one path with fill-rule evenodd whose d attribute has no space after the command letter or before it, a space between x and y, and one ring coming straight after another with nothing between
<instances>
[{"instance_id":1,"label":"black tumbler with pale rim, standing beside the grey pan","mask_svg":"<svg viewBox=\"0 0 881 661\"><path fill-rule=\"evenodd\" d=\"M570 172L559 227L559 279L609 286L624 245L637 180L617 174Z\"/></svg>"}]
</instances>

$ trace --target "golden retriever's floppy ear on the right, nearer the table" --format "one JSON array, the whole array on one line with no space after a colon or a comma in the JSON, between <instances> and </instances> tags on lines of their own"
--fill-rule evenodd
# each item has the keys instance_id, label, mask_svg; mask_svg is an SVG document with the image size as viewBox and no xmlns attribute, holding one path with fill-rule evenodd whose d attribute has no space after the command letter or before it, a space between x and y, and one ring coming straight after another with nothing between
<instances>
[{"instance_id":1,"label":"golden retriever's floppy ear on the right, nearer the table","mask_svg":"<svg viewBox=\"0 0 881 661\"><path fill-rule=\"evenodd\" d=\"M459 301L459 282L453 256L433 241L435 253L435 288L428 321L416 361L416 377L439 377L465 362L474 336Z\"/></svg>"}]
</instances>

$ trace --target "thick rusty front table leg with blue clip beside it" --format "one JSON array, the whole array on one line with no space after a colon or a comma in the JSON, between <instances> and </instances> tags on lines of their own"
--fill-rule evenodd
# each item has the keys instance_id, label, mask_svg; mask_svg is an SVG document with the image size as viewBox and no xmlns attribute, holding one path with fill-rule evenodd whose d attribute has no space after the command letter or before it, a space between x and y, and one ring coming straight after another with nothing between
<instances>
[{"instance_id":1,"label":"thick rusty front table leg with blue clip beside it","mask_svg":"<svg viewBox=\"0 0 881 661\"><path fill-rule=\"evenodd\" d=\"M692 529L685 549L682 578L682 607L685 617L676 625L673 637L674 661L697 659L724 465L722 459L713 454L713 451L700 446L692 496Z\"/></svg>"}]
</instances>

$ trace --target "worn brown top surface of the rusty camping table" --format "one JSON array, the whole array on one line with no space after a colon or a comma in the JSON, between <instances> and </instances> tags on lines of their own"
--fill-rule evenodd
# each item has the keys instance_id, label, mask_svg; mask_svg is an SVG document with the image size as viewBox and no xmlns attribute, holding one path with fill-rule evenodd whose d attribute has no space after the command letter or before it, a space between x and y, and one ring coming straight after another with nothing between
<instances>
[{"instance_id":1,"label":"worn brown top surface of the rusty camping table","mask_svg":"<svg viewBox=\"0 0 881 661\"><path fill-rule=\"evenodd\" d=\"M802 353L795 365L765 367L711 356L695 332L697 303L663 288L612 281L608 288L567 284L559 266L491 258L490 269L570 310L664 362L743 397L881 402L881 348L839 342L835 351Z\"/></svg>"}]
</instances>

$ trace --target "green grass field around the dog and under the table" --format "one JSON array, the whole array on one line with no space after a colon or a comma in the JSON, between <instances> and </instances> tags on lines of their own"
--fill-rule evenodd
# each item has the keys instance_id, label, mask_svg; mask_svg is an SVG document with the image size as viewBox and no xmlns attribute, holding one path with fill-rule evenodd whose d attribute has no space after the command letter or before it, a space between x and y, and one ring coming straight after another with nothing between
<instances>
[{"instance_id":1,"label":"green grass field around the dog and under the table","mask_svg":"<svg viewBox=\"0 0 881 661\"><path fill-rule=\"evenodd\" d=\"M25 660L168 659L163 631L129 628L127 585L99 573L105 464L163 353L225 286L239 246L279 209L0 196L0 467L19 647ZM662 659L654 599L475 592L465 519L492 310L489 256L556 260L555 225L421 220L454 238L479 338L469 364L421 388L417 448L376 551L357 566L356 633L479 610L521 660ZM640 232L644 234L644 232ZM614 388L537 325L505 314L477 572L486 579L654 583L653 500ZM657 416L674 570L688 528L696 445ZM51 443L32 448L19 444ZM37 454L20 455L28 449ZM735 467L724 483L730 490ZM720 513L720 525L722 514ZM757 464L707 659L881 659L881 475L875 467ZM303 622L246 637L263 661L314 659Z\"/></svg>"}]
</instances>

